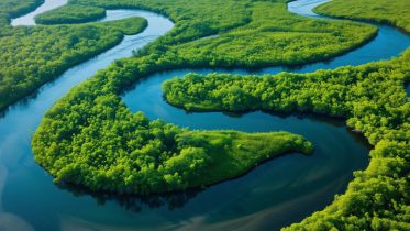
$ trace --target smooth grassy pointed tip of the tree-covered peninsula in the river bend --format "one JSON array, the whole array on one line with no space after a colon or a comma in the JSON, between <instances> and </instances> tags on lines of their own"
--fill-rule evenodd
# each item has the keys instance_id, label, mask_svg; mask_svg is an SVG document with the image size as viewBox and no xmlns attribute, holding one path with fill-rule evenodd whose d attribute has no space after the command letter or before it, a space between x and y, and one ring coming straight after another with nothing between
<instances>
[{"instance_id":1,"label":"smooth grassy pointed tip of the tree-covered peninsula in the river bend","mask_svg":"<svg viewBox=\"0 0 410 231\"><path fill-rule=\"evenodd\" d=\"M215 184L247 173L258 164L289 152L310 154L312 143L288 132L242 133L236 131L191 131L180 135L188 142L203 140L210 145L210 168L197 177L197 186ZM202 145L201 145L202 146Z\"/></svg>"}]
</instances>

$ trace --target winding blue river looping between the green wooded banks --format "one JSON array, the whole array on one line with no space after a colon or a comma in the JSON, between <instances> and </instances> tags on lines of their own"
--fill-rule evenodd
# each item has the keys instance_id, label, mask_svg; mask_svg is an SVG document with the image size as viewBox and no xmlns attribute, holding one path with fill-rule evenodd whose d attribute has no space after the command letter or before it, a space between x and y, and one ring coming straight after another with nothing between
<instances>
[{"instance_id":1,"label":"winding blue river looping between the green wooded banks","mask_svg":"<svg viewBox=\"0 0 410 231\"><path fill-rule=\"evenodd\" d=\"M289 3L288 9L301 15L319 16L311 9L323 2L299 0ZM49 10L51 6L65 3L66 0L46 0L38 9ZM12 24L32 25L33 15L15 19ZM324 208L335 194L345 190L353 170L367 165L369 146L359 135L350 132L343 121L263 112L186 113L162 98L164 80L189 72L275 74L287 68L179 69L158 73L137 82L135 89L124 94L124 101L132 111L142 110L151 119L162 118L192 129L285 130L302 134L315 144L313 155L295 153L278 157L237 179L184 195L111 198L58 188L34 162L31 135L44 112L73 86L114 59L131 56L132 50L143 47L173 28L168 19L142 10L109 10L103 21L134 15L148 20L143 33L125 36L114 48L70 68L43 86L35 97L12 106L0 119L0 230L277 230ZM397 56L410 46L410 38L398 30L378 28L374 41L351 53L291 70L307 73L359 65Z\"/></svg>"}]
</instances>

